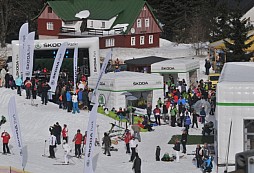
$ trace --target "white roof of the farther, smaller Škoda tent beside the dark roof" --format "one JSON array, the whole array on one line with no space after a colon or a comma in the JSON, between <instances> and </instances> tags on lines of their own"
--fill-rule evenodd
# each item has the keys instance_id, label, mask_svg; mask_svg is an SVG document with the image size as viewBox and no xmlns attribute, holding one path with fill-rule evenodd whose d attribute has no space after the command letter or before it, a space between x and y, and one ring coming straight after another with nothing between
<instances>
[{"instance_id":1,"label":"white roof of the farther, smaller \u0160koda tent beside the dark roof","mask_svg":"<svg viewBox=\"0 0 254 173\"><path fill-rule=\"evenodd\" d=\"M187 73L199 69L199 61L194 57L172 59L151 65L152 73Z\"/></svg>"}]
</instances>

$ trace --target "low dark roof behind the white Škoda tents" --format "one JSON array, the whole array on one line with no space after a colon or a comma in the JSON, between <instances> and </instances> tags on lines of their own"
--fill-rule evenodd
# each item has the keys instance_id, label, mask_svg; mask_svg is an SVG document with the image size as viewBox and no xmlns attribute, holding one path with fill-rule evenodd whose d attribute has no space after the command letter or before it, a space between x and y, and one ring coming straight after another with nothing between
<instances>
[{"instance_id":1,"label":"low dark roof behind the white \u0160koda tents","mask_svg":"<svg viewBox=\"0 0 254 173\"><path fill-rule=\"evenodd\" d=\"M157 62L168 60L168 59L169 58L148 56L148 57L143 57L143 58L126 60L126 61L124 61L124 63L127 65L151 65L153 63L157 63Z\"/></svg>"}]
</instances>

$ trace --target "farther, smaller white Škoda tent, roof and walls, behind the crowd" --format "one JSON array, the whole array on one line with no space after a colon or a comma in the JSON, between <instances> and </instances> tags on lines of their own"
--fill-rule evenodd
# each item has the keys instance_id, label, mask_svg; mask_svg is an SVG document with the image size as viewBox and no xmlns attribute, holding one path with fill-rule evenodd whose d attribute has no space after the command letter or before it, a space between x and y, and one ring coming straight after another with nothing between
<instances>
[{"instance_id":1,"label":"farther, smaller white \u0160koda tent, roof and walls, behind the crowd","mask_svg":"<svg viewBox=\"0 0 254 173\"><path fill-rule=\"evenodd\" d=\"M199 70L199 61L195 57L175 58L165 60L151 65L151 73L159 73L163 76L164 81L169 80L171 75L176 83L178 80L184 79L187 86L197 81Z\"/></svg>"}]
</instances>

